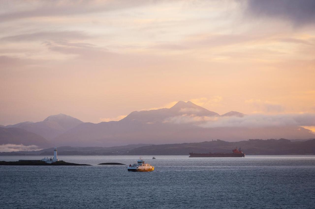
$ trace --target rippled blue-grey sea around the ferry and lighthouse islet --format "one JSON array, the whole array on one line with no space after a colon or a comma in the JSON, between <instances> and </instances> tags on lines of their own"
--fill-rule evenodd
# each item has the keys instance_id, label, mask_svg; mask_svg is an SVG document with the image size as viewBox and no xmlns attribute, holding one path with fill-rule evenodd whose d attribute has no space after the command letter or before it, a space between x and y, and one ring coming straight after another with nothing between
<instances>
[{"instance_id":1,"label":"rippled blue-grey sea around the ferry and lighthouse islet","mask_svg":"<svg viewBox=\"0 0 315 209\"><path fill-rule=\"evenodd\" d=\"M141 156L152 172L127 171L139 156L58 157L93 166L0 166L0 208L315 208L314 155Z\"/></svg>"}]
</instances>

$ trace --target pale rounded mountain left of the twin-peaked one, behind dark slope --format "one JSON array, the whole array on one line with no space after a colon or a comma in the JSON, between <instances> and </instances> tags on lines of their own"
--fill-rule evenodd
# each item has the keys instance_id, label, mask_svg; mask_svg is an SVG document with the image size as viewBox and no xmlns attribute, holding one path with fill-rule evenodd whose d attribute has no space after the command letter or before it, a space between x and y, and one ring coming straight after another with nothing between
<instances>
[{"instance_id":1,"label":"pale rounded mountain left of the twin-peaked one, behind dark slope","mask_svg":"<svg viewBox=\"0 0 315 209\"><path fill-rule=\"evenodd\" d=\"M46 139L52 139L70 130L71 128L83 123L82 121L69 115L51 115L40 122L22 122L15 125L5 126L6 128L22 128L26 131L36 133Z\"/></svg>"}]
</instances>

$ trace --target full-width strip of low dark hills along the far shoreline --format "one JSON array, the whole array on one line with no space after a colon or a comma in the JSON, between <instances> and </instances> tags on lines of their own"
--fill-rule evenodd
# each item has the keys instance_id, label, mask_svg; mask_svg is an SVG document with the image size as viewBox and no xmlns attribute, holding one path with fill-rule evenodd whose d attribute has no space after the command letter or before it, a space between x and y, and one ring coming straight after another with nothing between
<instances>
[{"instance_id":1,"label":"full-width strip of low dark hills along the far shoreline","mask_svg":"<svg viewBox=\"0 0 315 209\"><path fill-rule=\"evenodd\" d=\"M235 147L241 147L246 155L289 155L315 154L315 139L304 142L291 142L288 139L249 139L240 142L214 140L210 142L194 142L160 145L127 145L117 147L57 147L59 155L189 155L194 153L231 153ZM0 155L47 155L54 148L39 151L20 151L0 153Z\"/></svg>"}]
</instances>

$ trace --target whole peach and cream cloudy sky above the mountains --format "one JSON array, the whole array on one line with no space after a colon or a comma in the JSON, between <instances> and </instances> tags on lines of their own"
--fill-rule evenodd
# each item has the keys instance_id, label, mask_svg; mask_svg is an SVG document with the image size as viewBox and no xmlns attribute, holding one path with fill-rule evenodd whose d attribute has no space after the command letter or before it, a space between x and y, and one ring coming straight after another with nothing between
<instances>
[{"instance_id":1,"label":"whole peach and cream cloudy sky above the mountains","mask_svg":"<svg viewBox=\"0 0 315 209\"><path fill-rule=\"evenodd\" d=\"M315 113L315 1L1 1L0 124L192 101ZM315 129L314 129L315 130Z\"/></svg>"}]
</instances>

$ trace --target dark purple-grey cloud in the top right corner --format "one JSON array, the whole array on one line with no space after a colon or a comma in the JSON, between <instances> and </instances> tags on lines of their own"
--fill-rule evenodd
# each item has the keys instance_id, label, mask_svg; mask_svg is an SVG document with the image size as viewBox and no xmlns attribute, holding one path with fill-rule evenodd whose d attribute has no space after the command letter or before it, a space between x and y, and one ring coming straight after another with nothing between
<instances>
[{"instance_id":1,"label":"dark purple-grey cloud in the top right corner","mask_svg":"<svg viewBox=\"0 0 315 209\"><path fill-rule=\"evenodd\" d=\"M315 23L314 0L248 0L247 12L256 17L287 19L295 25Z\"/></svg>"}]
</instances>

